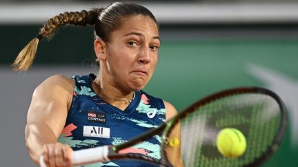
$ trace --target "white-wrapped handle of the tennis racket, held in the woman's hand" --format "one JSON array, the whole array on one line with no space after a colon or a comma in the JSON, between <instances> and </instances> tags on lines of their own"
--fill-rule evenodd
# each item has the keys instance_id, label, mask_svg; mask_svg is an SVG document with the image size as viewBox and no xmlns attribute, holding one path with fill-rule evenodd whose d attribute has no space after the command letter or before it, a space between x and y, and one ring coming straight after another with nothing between
<instances>
[{"instance_id":1,"label":"white-wrapped handle of the tennis racket, held in the woman's hand","mask_svg":"<svg viewBox=\"0 0 298 167\"><path fill-rule=\"evenodd\" d=\"M108 162L108 146L99 146L95 148L87 148L79 151L74 151L72 154L72 166L81 166L92 164L95 162ZM47 167L43 157L39 158L41 167Z\"/></svg>"}]
</instances>

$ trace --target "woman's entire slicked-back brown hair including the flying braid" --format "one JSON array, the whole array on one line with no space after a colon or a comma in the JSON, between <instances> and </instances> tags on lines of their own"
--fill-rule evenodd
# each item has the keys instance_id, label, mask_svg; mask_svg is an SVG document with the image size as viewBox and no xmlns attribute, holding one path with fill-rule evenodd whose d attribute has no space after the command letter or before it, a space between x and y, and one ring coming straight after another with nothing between
<instances>
[{"instance_id":1,"label":"woman's entire slicked-back brown hair including the flying braid","mask_svg":"<svg viewBox=\"0 0 298 167\"><path fill-rule=\"evenodd\" d=\"M27 71L34 60L39 41L43 38L50 39L54 32L62 25L95 25L95 37L103 41L110 41L110 34L121 27L121 23L129 16L141 14L149 16L150 19L157 21L155 16L145 7L135 3L112 3L106 8L94 8L90 11L81 10L81 12L63 12L51 19L41 27L39 34L24 47L14 60L12 66L16 71Z\"/></svg>"}]
</instances>

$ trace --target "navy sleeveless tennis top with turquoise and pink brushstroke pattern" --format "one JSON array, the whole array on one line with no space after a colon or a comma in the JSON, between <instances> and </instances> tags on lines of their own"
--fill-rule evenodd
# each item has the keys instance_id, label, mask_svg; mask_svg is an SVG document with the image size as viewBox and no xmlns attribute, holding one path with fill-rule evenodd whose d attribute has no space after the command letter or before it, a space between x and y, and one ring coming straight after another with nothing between
<instances>
[{"instance_id":1,"label":"navy sleeveless tennis top with turquoise and pink brushstroke pattern","mask_svg":"<svg viewBox=\"0 0 298 167\"><path fill-rule=\"evenodd\" d=\"M136 91L133 100L122 111L97 96L91 82L93 74L74 76L75 87L66 126L58 141L68 144L74 151L103 145L116 145L131 140L166 121L166 109L160 98ZM159 142L155 135L146 142L126 149L128 153L141 153L160 159ZM87 166L154 166L136 160L117 160Z\"/></svg>"}]
</instances>

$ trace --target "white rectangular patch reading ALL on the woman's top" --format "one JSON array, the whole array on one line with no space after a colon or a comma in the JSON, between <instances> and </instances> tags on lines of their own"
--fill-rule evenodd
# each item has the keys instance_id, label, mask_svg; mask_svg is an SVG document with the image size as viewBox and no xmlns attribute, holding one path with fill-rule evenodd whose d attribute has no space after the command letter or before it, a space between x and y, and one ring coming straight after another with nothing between
<instances>
[{"instance_id":1,"label":"white rectangular patch reading ALL on the woman's top","mask_svg":"<svg viewBox=\"0 0 298 167\"><path fill-rule=\"evenodd\" d=\"M110 129L99 126L83 126L83 136L110 138Z\"/></svg>"}]
</instances>

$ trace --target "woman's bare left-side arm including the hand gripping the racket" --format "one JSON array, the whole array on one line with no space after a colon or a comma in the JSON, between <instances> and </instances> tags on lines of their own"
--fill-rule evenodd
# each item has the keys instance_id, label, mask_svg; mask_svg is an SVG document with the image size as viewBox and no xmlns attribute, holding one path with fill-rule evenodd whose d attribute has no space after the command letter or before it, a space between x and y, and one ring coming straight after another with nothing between
<instances>
[{"instance_id":1,"label":"woman's bare left-side arm including the hand gripping the racket","mask_svg":"<svg viewBox=\"0 0 298 167\"><path fill-rule=\"evenodd\" d=\"M41 155L48 166L56 166L64 160L50 160L53 156L63 157L66 153L65 158L70 158L71 148L58 144L57 137L66 122L73 88L74 83L69 78L52 76L34 90L28 110L25 139L30 157L36 164L39 164Z\"/></svg>"}]
</instances>

